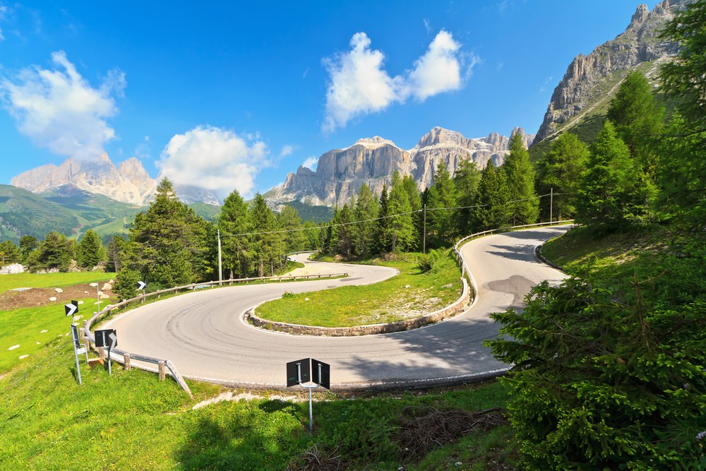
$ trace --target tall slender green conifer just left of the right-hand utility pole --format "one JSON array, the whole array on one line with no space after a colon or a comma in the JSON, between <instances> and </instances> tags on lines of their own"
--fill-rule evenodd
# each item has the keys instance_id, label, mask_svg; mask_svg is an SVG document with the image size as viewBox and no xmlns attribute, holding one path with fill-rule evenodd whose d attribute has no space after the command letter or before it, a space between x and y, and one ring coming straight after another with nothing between
<instances>
[{"instance_id":1,"label":"tall slender green conifer just left of the right-hand utility pole","mask_svg":"<svg viewBox=\"0 0 706 471\"><path fill-rule=\"evenodd\" d=\"M522 135L515 133L510 141L510 154L502 166L510 198L512 225L532 224L539 217L539 198L534 191L534 167L530 153L522 142Z\"/></svg>"}]
</instances>

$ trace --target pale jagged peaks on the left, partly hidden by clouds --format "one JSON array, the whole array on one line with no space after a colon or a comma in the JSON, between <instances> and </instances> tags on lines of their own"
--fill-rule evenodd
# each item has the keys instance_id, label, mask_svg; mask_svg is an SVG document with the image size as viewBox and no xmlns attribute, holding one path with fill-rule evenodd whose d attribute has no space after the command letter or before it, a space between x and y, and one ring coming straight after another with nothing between
<instances>
[{"instance_id":1,"label":"pale jagged peaks on the left, partly hidden by clouds","mask_svg":"<svg viewBox=\"0 0 706 471\"><path fill-rule=\"evenodd\" d=\"M161 174L152 179L136 157L124 160L116 167L103 153L97 160L68 158L58 167L54 164L42 165L19 174L10 184L35 194L71 185L121 203L143 206L152 200L160 179ZM215 193L207 189L186 185L174 185L174 189L186 204L220 204Z\"/></svg>"}]
</instances>

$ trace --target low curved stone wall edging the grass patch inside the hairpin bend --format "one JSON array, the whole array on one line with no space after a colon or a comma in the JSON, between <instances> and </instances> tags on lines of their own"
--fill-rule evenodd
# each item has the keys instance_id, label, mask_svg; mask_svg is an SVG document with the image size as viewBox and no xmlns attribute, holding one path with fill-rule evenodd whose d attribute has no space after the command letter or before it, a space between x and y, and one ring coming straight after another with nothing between
<instances>
[{"instance_id":1,"label":"low curved stone wall edging the grass patch inside the hairpin bend","mask_svg":"<svg viewBox=\"0 0 706 471\"><path fill-rule=\"evenodd\" d=\"M463 292L461 297L450 306L444 309L434 311L431 314L426 314L405 321L390 322L386 324L371 324L370 326L354 326L354 327L315 327L315 326L299 326L298 324L288 324L284 322L268 321L255 315L257 306L246 311L246 319L253 326L264 328L267 330L275 330L277 332L286 332L297 335L326 335L328 337L353 337L357 335L371 335L377 333L400 332L402 330L411 330L430 324L443 321L445 318L462 312L469 303L470 290L465 278L461 278L463 282Z\"/></svg>"}]
</instances>

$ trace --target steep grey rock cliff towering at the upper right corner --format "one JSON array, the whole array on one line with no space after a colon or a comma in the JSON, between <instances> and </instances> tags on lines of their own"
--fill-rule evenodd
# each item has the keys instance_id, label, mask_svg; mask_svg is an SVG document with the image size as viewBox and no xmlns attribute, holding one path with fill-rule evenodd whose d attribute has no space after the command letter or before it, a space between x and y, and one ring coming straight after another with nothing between
<instances>
[{"instance_id":1,"label":"steep grey rock cliff towering at the upper right corner","mask_svg":"<svg viewBox=\"0 0 706 471\"><path fill-rule=\"evenodd\" d=\"M628 28L614 40L601 44L588 56L579 54L569 64L563 79L554 89L551 102L544 114L542 126L534 142L551 136L563 123L570 121L605 97L617 87L606 78L618 74L622 78L636 66L654 62L655 67L676 55L677 44L659 38L664 24L674 17L674 12L691 0L663 0L652 11L644 4L638 6Z\"/></svg>"}]
</instances>

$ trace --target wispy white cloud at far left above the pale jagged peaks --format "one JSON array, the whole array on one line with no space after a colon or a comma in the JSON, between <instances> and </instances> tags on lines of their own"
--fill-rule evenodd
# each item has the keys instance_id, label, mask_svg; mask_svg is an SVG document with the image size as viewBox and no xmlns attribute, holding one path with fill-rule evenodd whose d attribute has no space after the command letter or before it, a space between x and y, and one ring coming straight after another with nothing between
<instances>
[{"instance_id":1,"label":"wispy white cloud at far left above the pale jagged peaks","mask_svg":"<svg viewBox=\"0 0 706 471\"><path fill-rule=\"evenodd\" d=\"M93 88L63 51L54 52L52 62L51 70L32 66L12 81L3 78L3 105L35 145L78 160L96 159L115 137L106 120L118 112L113 95L123 95L125 74L111 71Z\"/></svg>"}]
</instances>

